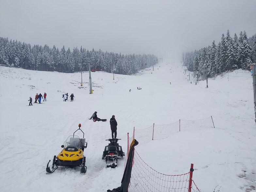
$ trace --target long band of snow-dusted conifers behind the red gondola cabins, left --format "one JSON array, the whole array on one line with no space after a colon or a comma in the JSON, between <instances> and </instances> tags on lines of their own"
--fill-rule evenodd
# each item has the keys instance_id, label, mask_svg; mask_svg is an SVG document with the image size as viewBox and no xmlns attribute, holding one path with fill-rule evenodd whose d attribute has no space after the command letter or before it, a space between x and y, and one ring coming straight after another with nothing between
<instances>
[{"instance_id":1,"label":"long band of snow-dusted conifers behind the red gondola cabins, left","mask_svg":"<svg viewBox=\"0 0 256 192\"><path fill-rule=\"evenodd\" d=\"M93 59L87 59L94 57ZM135 74L141 69L150 67L158 62L154 55L122 55L113 52L103 52L74 47L61 50L54 45L34 45L17 40L0 37L0 64L8 67L21 67L28 70L80 72L88 71L88 61L91 67L100 66L105 72Z\"/></svg>"}]
</instances>

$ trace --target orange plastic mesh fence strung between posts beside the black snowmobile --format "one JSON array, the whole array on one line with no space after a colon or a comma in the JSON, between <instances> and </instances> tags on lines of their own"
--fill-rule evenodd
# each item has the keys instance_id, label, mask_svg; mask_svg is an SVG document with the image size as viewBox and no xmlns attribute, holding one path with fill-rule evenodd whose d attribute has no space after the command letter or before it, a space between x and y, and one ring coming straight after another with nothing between
<instances>
[{"instance_id":1,"label":"orange plastic mesh fence strung between posts beside the black snowmobile","mask_svg":"<svg viewBox=\"0 0 256 192\"><path fill-rule=\"evenodd\" d=\"M139 145L148 143L153 139L164 139L171 134L179 131L201 130L214 128L212 117L201 120L178 120L167 125L156 125L146 129L135 129L134 133L129 136L127 142L127 153L125 156L125 164L127 162L130 145L135 138ZM166 175L159 173L149 167L134 151L133 167L131 180L129 184L129 192L187 192L189 184L189 172L182 175ZM193 181L193 180L192 180ZM193 185L194 184L194 185ZM200 192L193 181L191 192Z\"/></svg>"}]
</instances>

